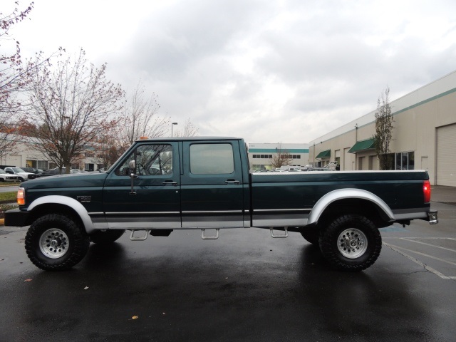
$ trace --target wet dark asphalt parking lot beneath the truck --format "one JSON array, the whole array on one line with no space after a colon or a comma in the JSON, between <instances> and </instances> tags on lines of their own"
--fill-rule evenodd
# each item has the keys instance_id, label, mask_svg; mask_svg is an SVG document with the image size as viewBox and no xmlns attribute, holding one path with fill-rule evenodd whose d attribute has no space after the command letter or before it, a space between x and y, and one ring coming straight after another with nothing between
<instances>
[{"instance_id":1,"label":"wet dark asphalt parking lot beneath the truck","mask_svg":"<svg viewBox=\"0 0 456 342\"><path fill-rule=\"evenodd\" d=\"M371 268L333 271L299 233L199 231L91 244L37 269L26 227L0 227L0 341L456 341L456 206L381 229Z\"/></svg>"}]
</instances>

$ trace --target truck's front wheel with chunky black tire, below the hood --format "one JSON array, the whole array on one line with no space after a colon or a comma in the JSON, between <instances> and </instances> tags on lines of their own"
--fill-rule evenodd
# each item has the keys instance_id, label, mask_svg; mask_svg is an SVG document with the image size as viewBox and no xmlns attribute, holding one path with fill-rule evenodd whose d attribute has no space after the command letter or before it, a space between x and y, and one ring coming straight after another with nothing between
<instances>
[{"instance_id":1,"label":"truck's front wheel with chunky black tire, below the hood","mask_svg":"<svg viewBox=\"0 0 456 342\"><path fill-rule=\"evenodd\" d=\"M90 241L70 217L46 214L28 228L25 246L28 259L40 269L71 269L86 256Z\"/></svg>"}]
</instances>

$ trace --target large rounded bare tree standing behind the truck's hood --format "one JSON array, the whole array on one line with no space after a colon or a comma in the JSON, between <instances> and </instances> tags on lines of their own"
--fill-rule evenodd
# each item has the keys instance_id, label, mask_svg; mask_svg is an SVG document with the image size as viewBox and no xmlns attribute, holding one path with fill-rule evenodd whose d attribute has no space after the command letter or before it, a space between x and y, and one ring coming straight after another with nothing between
<instances>
[{"instance_id":1,"label":"large rounded bare tree standing behind the truck's hood","mask_svg":"<svg viewBox=\"0 0 456 342\"><path fill-rule=\"evenodd\" d=\"M61 56L55 68L31 63L24 125L35 148L68 173L71 161L116 124L123 90L106 80L106 64L88 65L82 49L74 58Z\"/></svg>"}]
</instances>

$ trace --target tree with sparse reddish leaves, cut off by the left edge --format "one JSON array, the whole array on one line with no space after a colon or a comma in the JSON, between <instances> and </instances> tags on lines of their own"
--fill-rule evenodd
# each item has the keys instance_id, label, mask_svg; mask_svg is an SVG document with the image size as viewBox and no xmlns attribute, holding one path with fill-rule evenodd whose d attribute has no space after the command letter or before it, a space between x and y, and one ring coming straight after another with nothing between
<instances>
[{"instance_id":1,"label":"tree with sparse reddish leaves, cut off by the left edge","mask_svg":"<svg viewBox=\"0 0 456 342\"><path fill-rule=\"evenodd\" d=\"M11 26L26 19L33 9L33 2L26 9L19 10L19 1L14 3L16 7L9 14L0 12L0 41L13 42L14 48L11 53L0 55L0 158L13 150L16 140L14 134L18 127L14 120L14 113L20 108L15 94L24 87L24 73L27 70L21 68L21 48L19 41L9 36Z\"/></svg>"}]
</instances>

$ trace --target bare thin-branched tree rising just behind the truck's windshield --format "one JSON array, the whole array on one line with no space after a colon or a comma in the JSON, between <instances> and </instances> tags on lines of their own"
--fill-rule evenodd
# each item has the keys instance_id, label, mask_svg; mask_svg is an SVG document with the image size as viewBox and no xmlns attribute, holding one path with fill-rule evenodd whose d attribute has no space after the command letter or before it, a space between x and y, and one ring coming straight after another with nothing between
<instances>
[{"instance_id":1,"label":"bare thin-branched tree rising just behind the truck's windshield","mask_svg":"<svg viewBox=\"0 0 456 342\"><path fill-rule=\"evenodd\" d=\"M170 125L169 118L160 118L158 96L152 93L146 98L141 83L125 99L123 116L118 123L119 147L124 152L135 140L141 137L157 138L165 135Z\"/></svg>"}]
</instances>

